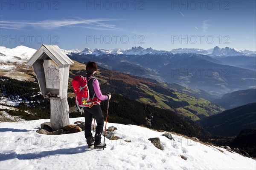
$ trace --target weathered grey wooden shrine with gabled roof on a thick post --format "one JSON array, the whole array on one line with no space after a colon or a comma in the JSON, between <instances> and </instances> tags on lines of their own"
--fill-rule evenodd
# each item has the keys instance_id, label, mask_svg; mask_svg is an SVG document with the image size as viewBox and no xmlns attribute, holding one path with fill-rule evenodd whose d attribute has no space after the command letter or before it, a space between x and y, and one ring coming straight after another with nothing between
<instances>
[{"instance_id":1,"label":"weathered grey wooden shrine with gabled roof on a thick post","mask_svg":"<svg viewBox=\"0 0 256 170\"><path fill-rule=\"evenodd\" d=\"M41 94L51 103L52 130L70 124L67 87L70 64L74 62L55 45L41 45L26 63L32 66Z\"/></svg>"}]
</instances>

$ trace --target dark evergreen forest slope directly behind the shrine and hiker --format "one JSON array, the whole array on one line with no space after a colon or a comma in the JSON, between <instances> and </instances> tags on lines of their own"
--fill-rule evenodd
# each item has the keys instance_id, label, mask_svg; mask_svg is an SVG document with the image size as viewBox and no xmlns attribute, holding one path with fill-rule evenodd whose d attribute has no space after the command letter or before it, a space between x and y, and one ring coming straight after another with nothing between
<instances>
[{"instance_id":1,"label":"dark evergreen forest slope directly behind the shrine and hiker","mask_svg":"<svg viewBox=\"0 0 256 170\"><path fill-rule=\"evenodd\" d=\"M8 88L6 88L8 86ZM3 98L20 100L16 107L19 111L0 109L10 115L21 116L26 120L50 118L49 99L39 95L37 81L18 81L11 78L1 77L0 83ZM16 96L16 97L14 97ZM75 105L74 98L68 98L70 107ZM103 113L106 113L106 101L102 101ZM70 117L81 117L80 112L70 112ZM120 124L134 124L149 127L155 130L166 130L187 136L196 136L206 139L210 134L193 121L177 115L167 109L160 109L149 104L129 99L119 94L113 94L111 98L108 121Z\"/></svg>"}]
</instances>

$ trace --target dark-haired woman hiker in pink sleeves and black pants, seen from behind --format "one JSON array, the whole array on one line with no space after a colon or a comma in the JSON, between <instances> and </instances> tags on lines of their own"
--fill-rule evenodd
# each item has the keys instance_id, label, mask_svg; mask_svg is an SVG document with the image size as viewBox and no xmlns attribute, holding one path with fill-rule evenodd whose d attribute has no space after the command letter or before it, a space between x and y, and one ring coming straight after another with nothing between
<instances>
[{"instance_id":1,"label":"dark-haired woman hiker in pink sleeves and black pants, seen from behind","mask_svg":"<svg viewBox=\"0 0 256 170\"><path fill-rule=\"evenodd\" d=\"M97 71L97 64L95 62L89 61L86 64L86 75L87 85L89 88L89 95L92 101L94 101L93 106L84 107L84 117L85 117L85 128L84 135L87 140L88 146L93 146L94 148L103 148L106 147L106 144L101 143L101 135L104 126L104 120L102 115L102 109L100 107L100 101L108 100L111 98L111 95L102 95L102 92L99 87L99 81L94 78L94 74ZM96 133L93 139L91 133L91 124L93 118L96 120L97 127Z\"/></svg>"}]
</instances>

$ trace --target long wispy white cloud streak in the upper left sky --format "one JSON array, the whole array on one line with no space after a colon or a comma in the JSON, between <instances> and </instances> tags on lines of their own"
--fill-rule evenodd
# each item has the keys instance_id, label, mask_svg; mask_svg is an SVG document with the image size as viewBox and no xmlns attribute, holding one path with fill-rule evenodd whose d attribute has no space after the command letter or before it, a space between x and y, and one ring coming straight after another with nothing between
<instances>
[{"instance_id":1,"label":"long wispy white cloud streak in the upper left sky","mask_svg":"<svg viewBox=\"0 0 256 170\"><path fill-rule=\"evenodd\" d=\"M0 28L2 29L24 29L24 28L41 28L41 29L56 29L60 27L84 27L87 29L99 30L122 30L116 25L106 24L103 22L115 21L114 19L69 19L69 20L43 20L43 21L28 21L28 20L1 20ZM88 25L88 26L85 26Z\"/></svg>"}]
</instances>

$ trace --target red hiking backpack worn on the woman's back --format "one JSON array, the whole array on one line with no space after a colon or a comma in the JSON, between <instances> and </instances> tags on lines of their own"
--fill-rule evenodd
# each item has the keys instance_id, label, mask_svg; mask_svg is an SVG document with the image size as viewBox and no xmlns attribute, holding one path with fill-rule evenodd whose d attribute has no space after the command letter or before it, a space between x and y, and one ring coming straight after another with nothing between
<instances>
[{"instance_id":1,"label":"red hiking backpack worn on the woman's back","mask_svg":"<svg viewBox=\"0 0 256 170\"><path fill-rule=\"evenodd\" d=\"M91 77L94 78L94 77ZM89 78L88 81L91 79ZM76 102L76 109L79 110L81 113L84 111L84 109L81 109L80 107L89 107L91 108L94 104L100 104L100 100L95 96L95 93L93 95L93 98L90 98L89 93L89 87L87 84L87 79L84 78L81 75L77 75L73 81L72 86L75 93L75 102Z\"/></svg>"}]
</instances>

